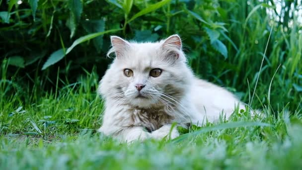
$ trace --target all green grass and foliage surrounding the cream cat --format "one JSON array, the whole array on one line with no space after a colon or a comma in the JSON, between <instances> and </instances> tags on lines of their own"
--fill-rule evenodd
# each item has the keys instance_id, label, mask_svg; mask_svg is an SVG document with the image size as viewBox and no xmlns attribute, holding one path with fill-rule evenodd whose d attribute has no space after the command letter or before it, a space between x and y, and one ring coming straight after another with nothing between
<instances>
[{"instance_id":1,"label":"all green grass and foliage surrounding the cream cat","mask_svg":"<svg viewBox=\"0 0 302 170\"><path fill-rule=\"evenodd\" d=\"M274 2L0 0L0 169L302 167L302 3ZM198 77L263 115L236 110L167 142L96 134L110 35L175 33Z\"/></svg>"}]
</instances>

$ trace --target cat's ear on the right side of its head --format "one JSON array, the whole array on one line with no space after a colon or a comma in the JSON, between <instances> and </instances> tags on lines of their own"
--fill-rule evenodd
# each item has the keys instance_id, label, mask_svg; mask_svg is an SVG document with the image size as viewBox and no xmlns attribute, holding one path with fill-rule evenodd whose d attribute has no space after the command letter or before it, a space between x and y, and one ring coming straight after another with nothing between
<instances>
[{"instance_id":1,"label":"cat's ear on the right side of its head","mask_svg":"<svg viewBox=\"0 0 302 170\"><path fill-rule=\"evenodd\" d=\"M181 39L177 34L169 36L162 44L162 49L167 51L168 55L166 57L168 58L174 57L178 59L181 47Z\"/></svg>"}]
</instances>

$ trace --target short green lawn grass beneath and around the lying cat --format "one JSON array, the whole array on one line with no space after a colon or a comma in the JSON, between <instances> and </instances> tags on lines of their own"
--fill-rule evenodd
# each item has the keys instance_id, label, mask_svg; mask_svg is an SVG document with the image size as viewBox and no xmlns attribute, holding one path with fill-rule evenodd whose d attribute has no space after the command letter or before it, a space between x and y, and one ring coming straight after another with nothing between
<instances>
[{"instance_id":1,"label":"short green lawn grass beneath and around the lying cat","mask_svg":"<svg viewBox=\"0 0 302 170\"><path fill-rule=\"evenodd\" d=\"M97 86L93 80L95 74L87 74L77 84L46 93L36 102L26 102L17 94L2 96L0 169L302 167L300 111L284 107L275 110L275 117L273 110L263 108L262 115L251 117L249 112L237 110L229 121L193 127L193 133L175 140L127 145L96 133L102 102L91 90Z\"/></svg>"}]
</instances>

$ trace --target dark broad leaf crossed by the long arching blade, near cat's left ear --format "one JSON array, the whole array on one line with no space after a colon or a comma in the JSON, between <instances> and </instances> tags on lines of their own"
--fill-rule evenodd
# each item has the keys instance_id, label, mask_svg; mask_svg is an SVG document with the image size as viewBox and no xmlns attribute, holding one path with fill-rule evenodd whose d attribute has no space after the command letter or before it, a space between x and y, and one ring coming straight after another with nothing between
<instances>
[{"instance_id":1,"label":"dark broad leaf crossed by the long arching blade, near cat's left ear","mask_svg":"<svg viewBox=\"0 0 302 170\"><path fill-rule=\"evenodd\" d=\"M105 21L102 19L84 21L82 25L88 33L103 32L105 29ZM93 44L97 52L101 52L103 46L103 36L101 35L94 38Z\"/></svg>"}]
</instances>

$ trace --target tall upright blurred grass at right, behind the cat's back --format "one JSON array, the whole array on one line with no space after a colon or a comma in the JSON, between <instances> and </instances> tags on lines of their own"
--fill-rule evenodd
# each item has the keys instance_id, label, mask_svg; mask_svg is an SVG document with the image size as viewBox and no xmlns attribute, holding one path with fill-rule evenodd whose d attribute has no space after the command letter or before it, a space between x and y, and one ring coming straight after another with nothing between
<instances>
[{"instance_id":1,"label":"tall upright blurred grass at right, behind the cat's back","mask_svg":"<svg viewBox=\"0 0 302 170\"><path fill-rule=\"evenodd\" d=\"M301 109L302 80L299 75L302 71L298 61L301 59L302 49L299 44L302 42L302 34L298 30L302 24L298 22L297 17L293 17L292 27L285 31L281 22L273 22L276 18L266 13L267 7L264 7L264 3L250 1L247 4L245 1L236 1L231 5L223 3L222 6L232 11L228 15L230 25L227 27L227 34L238 49L232 48L232 44L227 42L230 55L227 62L235 69L226 65L220 71L223 74L224 70L230 70L224 79L228 80L232 87L244 91L244 100L248 100L248 88L253 91L256 84L270 29L273 27L264 65L260 71L259 86L256 89L258 100L255 104L270 104L274 109L282 106L288 106L291 110ZM267 96L269 82L279 65L281 69L272 81L271 96ZM271 98L270 103L268 97Z\"/></svg>"}]
</instances>

